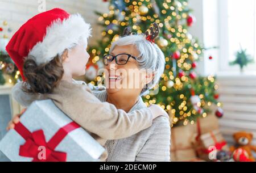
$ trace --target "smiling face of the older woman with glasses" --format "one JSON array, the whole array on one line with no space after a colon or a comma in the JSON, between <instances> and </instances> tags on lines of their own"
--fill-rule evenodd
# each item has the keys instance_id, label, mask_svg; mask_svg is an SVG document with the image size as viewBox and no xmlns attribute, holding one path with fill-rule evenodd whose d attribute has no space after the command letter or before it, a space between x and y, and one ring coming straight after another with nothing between
<instances>
[{"instance_id":1,"label":"smiling face of the older woman with glasses","mask_svg":"<svg viewBox=\"0 0 256 173\"><path fill-rule=\"evenodd\" d=\"M134 45L117 45L110 52L113 56L123 53L134 57L139 56L139 52ZM119 56L117 58L120 58L118 61L124 64L122 63L125 62L124 57ZM109 93L122 92L124 95L139 95L142 88L146 85L147 73L139 69L134 58L130 57L124 65L116 64L115 60L113 60L109 65L105 65L105 68L108 70L108 74L106 74L106 87Z\"/></svg>"}]
</instances>

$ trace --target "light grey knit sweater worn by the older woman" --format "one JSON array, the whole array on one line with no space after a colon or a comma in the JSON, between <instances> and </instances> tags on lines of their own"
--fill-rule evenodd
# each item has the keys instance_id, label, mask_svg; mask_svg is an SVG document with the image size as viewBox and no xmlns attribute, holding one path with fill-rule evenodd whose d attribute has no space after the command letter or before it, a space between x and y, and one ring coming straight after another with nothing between
<instances>
[{"instance_id":1,"label":"light grey knit sweater worn by the older woman","mask_svg":"<svg viewBox=\"0 0 256 173\"><path fill-rule=\"evenodd\" d=\"M101 102L106 102L107 92L93 91ZM146 108L141 97L129 112ZM120 140L108 140L108 162L170 162L171 128L168 116L159 116L152 125Z\"/></svg>"}]
</instances>

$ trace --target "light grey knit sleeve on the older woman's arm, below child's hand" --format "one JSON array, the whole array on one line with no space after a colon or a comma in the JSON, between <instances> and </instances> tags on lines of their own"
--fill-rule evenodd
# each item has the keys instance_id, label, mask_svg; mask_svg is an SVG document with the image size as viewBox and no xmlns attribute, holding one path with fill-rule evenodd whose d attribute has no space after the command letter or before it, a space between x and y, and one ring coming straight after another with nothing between
<instances>
[{"instance_id":1,"label":"light grey knit sleeve on the older woman's arm, below child's hand","mask_svg":"<svg viewBox=\"0 0 256 173\"><path fill-rule=\"evenodd\" d=\"M170 162L170 121L157 117L151 126L151 135L137 154L135 162Z\"/></svg>"}]
</instances>

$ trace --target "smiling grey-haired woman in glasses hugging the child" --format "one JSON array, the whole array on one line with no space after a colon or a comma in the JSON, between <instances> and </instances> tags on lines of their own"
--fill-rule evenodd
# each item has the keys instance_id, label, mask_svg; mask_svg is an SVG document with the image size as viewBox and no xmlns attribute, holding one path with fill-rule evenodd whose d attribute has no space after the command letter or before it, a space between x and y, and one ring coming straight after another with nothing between
<instances>
[{"instance_id":1,"label":"smiling grey-haired woman in glasses hugging the child","mask_svg":"<svg viewBox=\"0 0 256 173\"><path fill-rule=\"evenodd\" d=\"M165 65L164 54L153 39L152 33L151 39L128 35L112 43L110 54L104 56L106 90L94 91L98 99L126 112L146 107L141 95L158 84ZM134 74L140 77L134 78ZM170 134L169 117L160 116L150 128L107 141L107 161L170 161Z\"/></svg>"}]
</instances>

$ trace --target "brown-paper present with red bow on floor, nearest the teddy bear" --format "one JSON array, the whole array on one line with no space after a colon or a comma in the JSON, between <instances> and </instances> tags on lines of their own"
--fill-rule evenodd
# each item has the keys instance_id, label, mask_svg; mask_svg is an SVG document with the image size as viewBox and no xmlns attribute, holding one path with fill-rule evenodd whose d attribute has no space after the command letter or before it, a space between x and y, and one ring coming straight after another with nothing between
<instances>
[{"instance_id":1,"label":"brown-paper present with red bow on floor, nearest the teddy bear","mask_svg":"<svg viewBox=\"0 0 256 173\"><path fill-rule=\"evenodd\" d=\"M229 151L227 142L219 130L200 134L200 136L197 134L192 143L197 156L205 161L216 161L217 152Z\"/></svg>"}]
</instances>

